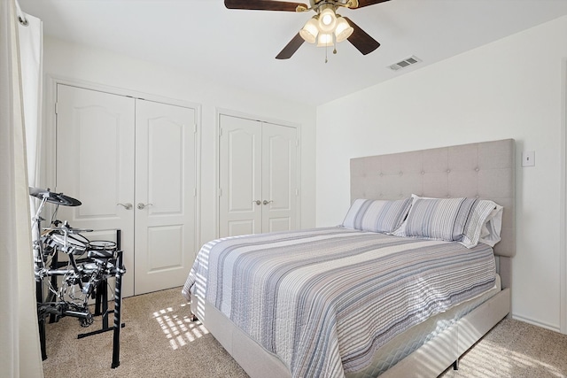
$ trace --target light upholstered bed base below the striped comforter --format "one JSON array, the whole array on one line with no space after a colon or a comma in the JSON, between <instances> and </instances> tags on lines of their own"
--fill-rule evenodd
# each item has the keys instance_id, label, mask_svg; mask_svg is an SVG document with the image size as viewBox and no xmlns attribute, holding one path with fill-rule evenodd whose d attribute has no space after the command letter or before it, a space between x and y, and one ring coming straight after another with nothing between
<instances>
[{"instance_id":1,"label":"light upholstered bed base below the striped comforter","mask_svg":"<svg viewBox=\"0 0 567 378\"><path fill-rule=\"evenodd\" d=\"M439 336L424 343L381 377L437 377L453 365L510 311L510 290L502 289L464 315ZM252 378L289 378L291 373L276 355L253 341L213 305L194 297L191 312Z\"/></svg>"}]
</instances>

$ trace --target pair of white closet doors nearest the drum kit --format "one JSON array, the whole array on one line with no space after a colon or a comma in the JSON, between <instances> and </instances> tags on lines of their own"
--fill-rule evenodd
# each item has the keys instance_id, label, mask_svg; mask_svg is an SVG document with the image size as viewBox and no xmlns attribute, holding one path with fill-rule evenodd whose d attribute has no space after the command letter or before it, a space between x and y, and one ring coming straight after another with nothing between
<instances>
[{"instance_id":1,"label":"pair of white closet doors nearest the drum kit","mask_svg":"<svg viewBox=\"0 0 567 378\"><path fill-rule=\"evenodd\" d=\"M196 249L192 108L58 84L57 191L82 201L59 220L121 230L123 295L183 285Z\"/></svg>"}]
</instances>

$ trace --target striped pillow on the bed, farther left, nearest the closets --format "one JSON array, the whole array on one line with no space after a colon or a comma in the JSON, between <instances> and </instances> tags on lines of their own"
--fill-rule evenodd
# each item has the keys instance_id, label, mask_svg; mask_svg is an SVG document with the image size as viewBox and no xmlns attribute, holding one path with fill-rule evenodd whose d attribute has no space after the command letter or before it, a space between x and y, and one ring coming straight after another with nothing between
<instances>
[{"instance_id":1,"label":"striped pillow on the bed, farther left, nearest the closets","mask_svg":"<svg viewBox=\"0 0 567 378\"><path fill-rule=\"evenodd\" d=\"M342 226L389 234L400 227L410 206L411 198L396 201L357 199L346 213Z\"/></svg>"}]
</instances>

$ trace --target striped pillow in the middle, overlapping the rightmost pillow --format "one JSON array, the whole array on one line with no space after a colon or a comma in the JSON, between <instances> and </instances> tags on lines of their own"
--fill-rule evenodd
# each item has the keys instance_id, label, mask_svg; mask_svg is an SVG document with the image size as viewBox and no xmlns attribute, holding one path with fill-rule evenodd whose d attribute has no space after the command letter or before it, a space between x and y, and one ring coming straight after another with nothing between
<instances>
[{"instance_id":1,"label":"striped pillow in the middle, overlapping the rightmost pillow","mask_svg":"<svg viewBox=\"0 0 567 378\"><path fill-rule=\"evenodd\" d=\"M461 241L476 201L475 198L414 197L401 236Z\"/></svg>"}]
</instances>

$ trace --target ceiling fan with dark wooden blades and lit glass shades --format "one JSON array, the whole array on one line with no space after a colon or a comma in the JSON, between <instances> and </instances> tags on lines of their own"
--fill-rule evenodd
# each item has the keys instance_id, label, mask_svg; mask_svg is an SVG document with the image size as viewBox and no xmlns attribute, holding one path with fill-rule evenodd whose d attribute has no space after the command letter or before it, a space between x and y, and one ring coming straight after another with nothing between
<instances>
[{"instance_id":1,"label":"ceiling fan with dark wooden blades and lit glass shades","mask_svg":"<svg viewBox=\"0 0 567 378\"><path fill-rule=\"evenodd\" d=\"M278 0L224 0L229 9L254 11L308 12L316 14L299 33L277 54L276 59L289 59L303 42L317 42L318 47L333 46L336 42L348 40L363 55L376 50L380 43L358 27L351 19L337 13L338 8L359 9L384 3L389 0L309 0L311 6ZM333 52L337 52L334 50Z\"/></svg>"}]
</instances>

